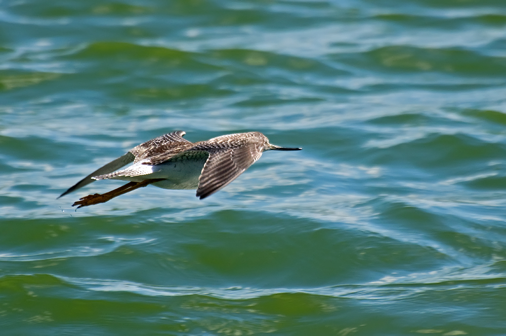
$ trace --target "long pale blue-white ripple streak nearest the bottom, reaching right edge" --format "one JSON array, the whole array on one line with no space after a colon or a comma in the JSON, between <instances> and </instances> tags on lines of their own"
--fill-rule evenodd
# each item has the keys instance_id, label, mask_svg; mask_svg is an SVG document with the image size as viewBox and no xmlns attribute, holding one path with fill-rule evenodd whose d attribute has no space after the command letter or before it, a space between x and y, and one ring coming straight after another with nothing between
<instances>
[{"instance_id":1,"label":"long pale blue-white ripple streak nearest the bottom, reaching right edge","mask_svg":"<svg viewBox=\"0 0 506 336\"><path fill-rule=\"evenodd\" d=\"M406 276L386 276L367 284L337 285L319 288L252 288L252 287L192 287L155 286L123 280L57 277L87 290L125 291L142 296L209 296L226 300L251 300L281 294L306 293L315 296L349 298L354 300L403 300L423 292L462 290L483 286L497 288L506 285L506 273L491 274L489 267L443 269L438 272L414 273Z\"/></svg>"}]
</instances>

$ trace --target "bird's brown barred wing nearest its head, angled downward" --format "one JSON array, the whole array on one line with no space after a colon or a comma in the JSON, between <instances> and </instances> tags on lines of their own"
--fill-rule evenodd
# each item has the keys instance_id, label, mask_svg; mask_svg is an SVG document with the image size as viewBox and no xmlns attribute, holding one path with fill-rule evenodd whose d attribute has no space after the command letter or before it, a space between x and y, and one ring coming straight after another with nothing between
<instances>
[{"instance_id":1,"label":"bird's brown barred wing nearest its head, angled downward","mask_svg":"<svg viewBox=\"0 0 506 336\"><path fill-rule=\"evenodd\" d=\"M208 152L209 157L198 179L197 197L200 199L225 187L262 156L255 144L210 149Z\"/></svg>"}]
</instances>

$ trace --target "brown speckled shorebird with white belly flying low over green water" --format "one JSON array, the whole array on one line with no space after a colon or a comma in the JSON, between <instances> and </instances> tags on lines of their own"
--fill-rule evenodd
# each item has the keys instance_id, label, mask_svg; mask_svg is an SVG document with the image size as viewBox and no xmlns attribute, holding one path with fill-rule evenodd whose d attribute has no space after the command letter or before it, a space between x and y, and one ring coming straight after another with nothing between
<instances>
[{"instance_id":1,"label":"brown speckled shorebird with white belly flying low over green water","mask_svg":"<svg viewBox=\"0 0 506 336\"><path fill-rule=\"evenodd\" d=\"M96 180L121 180L129 183L104 194L80 198L72 206L89 206L152 184L164 189L197 189L200 199L214 194L235 180L255 163L266 150L301 150L269 143L260 132L229 134L191 143L186 133L176 131L149 140L100 167L77 182L58 198ZM126 164L123 170L116 171Z\"/></svg>"}]
</instances>

